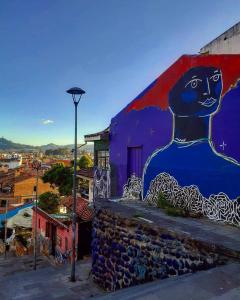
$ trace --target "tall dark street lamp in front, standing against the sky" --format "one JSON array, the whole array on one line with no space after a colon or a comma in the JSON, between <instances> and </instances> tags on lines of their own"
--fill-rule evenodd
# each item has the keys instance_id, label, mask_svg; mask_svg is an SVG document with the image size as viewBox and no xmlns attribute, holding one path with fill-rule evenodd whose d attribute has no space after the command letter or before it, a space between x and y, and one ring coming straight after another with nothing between
<instances>
[{"instance_id":1,"label":"tall dark street lamp in front, standing against the sky","mask_svg":"<svg viewBox=\"0 0 240 300\"><path fill-rule=\"evenodd\" d=\"M75 260L76 260L76 175L77 175L77 106L85 91L73 87L67 90L68 94L72 95L73 103L75 106L75 142L74 142L74 173L73 173L73 208L72 208L72 268L71 268L71 281L76 281L75 277Z\"/></svg>"}]
</instances>

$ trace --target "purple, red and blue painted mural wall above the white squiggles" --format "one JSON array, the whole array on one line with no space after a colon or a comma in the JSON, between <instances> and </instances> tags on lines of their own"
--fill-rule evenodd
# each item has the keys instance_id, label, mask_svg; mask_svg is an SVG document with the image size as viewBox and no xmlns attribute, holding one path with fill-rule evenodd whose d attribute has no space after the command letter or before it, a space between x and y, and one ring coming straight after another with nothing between
<instances>
[{"instance_id":1,"label":"purple, red and blue painted mural wall above the white squiggles","mask_svg":"<svg viewBox=\"0 0 240 300\"><path fill-rule=\"evenodd\" d=\"M239 78L240 55L183 56L115 116L114 195L122 195L135 159L143 199L160 174L206 199L240 196Z\"/></svg>"}]
</instances>

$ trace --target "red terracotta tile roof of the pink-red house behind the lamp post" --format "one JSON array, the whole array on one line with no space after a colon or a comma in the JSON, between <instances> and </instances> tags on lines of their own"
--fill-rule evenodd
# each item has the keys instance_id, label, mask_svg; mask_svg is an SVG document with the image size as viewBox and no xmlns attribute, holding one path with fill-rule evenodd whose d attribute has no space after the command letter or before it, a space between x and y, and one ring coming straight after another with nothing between
<instances>
[{"instance_id":1,"label":"red terracotta tile roof of the pink-red house behind the lamp post","mask_svg":"<svg viewBox=\"0 0 240 300\"><path fill-rule=\"evenodd\" d=\"M63 201L62 204L65 205L68 209L72 209L73 197L68 196ZM91 221L93 219L93 211L88 206L88 201L84 200L81 197L77 197L77 207L76 212L78 217L83 221Z\"/></svg>"}]
</instances>

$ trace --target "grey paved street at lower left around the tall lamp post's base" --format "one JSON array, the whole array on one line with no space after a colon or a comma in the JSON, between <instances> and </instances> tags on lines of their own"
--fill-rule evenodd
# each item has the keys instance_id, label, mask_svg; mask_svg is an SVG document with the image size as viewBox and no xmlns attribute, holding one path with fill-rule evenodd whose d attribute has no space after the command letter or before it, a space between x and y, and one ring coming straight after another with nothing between
<instances>
[{"instance_id":1,"label":"grey paved street at lower left around the tall lamp post's base","mask_svg":"<svg viewBox=\"0 0 240 300\"><path fill-rule=\"evenodd\" d=\"M0 259L1 300L83 300L104 293L89 276L91 259L77 262L74 283L69 281L69 265L54 267L39 258L37 271L32 271L30 262L32 258L28 256L11 258L8 262ZM21 264L24 267L19 269Z\"/></svg>"}]
</instances>

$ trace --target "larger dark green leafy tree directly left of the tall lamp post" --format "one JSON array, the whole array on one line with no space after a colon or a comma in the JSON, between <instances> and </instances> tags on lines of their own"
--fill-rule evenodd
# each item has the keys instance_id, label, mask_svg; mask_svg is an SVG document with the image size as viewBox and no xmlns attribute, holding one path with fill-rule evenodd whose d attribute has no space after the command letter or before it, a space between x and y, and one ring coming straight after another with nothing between
<instances>
[{"instance_id":1,"label":"larger dark green leafy tree directly left of the tall lamp post","mask_svg":"<svg viewBox=\"0 0 240 300\"><path fill-rule=\"evenodd\" d=\"M60 195L71 195L73 169L62 164L56 164L43 175L42 180L45 183L50 183L51 186L58 187Z\"/></svg>"}]
</instances>

